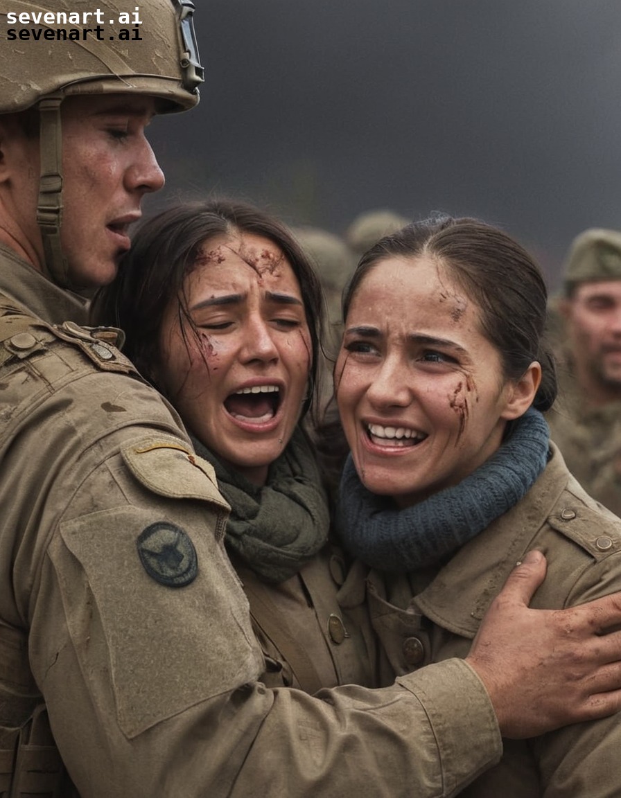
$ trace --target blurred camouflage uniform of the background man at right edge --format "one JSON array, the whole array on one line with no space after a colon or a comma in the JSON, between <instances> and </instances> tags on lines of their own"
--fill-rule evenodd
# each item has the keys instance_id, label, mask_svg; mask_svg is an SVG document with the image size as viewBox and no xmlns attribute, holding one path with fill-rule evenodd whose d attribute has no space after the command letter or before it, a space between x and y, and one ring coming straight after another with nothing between
<instances>
[{"instance_id":1,"label":"blurred camouflage uniform of the background man at right edge","mask_svg":"<svg viewBox=\"0 0 621 798\"><path fill-rule=\"evenodd\" d=\"M559 376L560 396L547 415L552 440L585 491L621 516L621 401L589 408L568 365Z\"/></svg>"}]
</instances>

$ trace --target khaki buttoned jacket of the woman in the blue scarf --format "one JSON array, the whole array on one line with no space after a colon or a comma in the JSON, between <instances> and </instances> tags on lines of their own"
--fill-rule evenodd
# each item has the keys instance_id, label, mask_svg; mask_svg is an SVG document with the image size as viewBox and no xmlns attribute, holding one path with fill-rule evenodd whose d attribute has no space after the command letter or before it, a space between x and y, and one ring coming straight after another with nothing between
<instances>
[{"instance_id":1,"label":"khaki buttoned jacket of the woman in the blue scarf","mask_svg":"<svg viewBox=\"0 0 621 798\"><path fill-rule=\"evenodd\" d=\"M552 452L524 500L444 567L394 579L370 575L373 623L394 673L464 657L490 602L532 548L544 551L548 575L531 606L562 608L621 589L621 520L587 496L558 449ZM500 764L461 795L619 798L620 750L618 716L528 741L505 740Z\"/></svg>"}]
</instances>

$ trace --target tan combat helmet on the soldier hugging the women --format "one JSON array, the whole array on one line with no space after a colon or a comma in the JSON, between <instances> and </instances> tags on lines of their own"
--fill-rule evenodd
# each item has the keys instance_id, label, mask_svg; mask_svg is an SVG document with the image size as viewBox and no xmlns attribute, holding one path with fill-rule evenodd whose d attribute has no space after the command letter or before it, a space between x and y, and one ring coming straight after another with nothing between
<instances>
[{"instance_id":1,"label":"tan combat helmet on the soldier hugging the women","mask_svg":"<svg viewBox=\"0 0 621 798\"><path fill-rule=\"evenodd\" d=\"M163 111L196 105L203 69L192 2L97 0L97 11L74 10L84 6L14 0L0 11L0 113L74 94L149 94L169 101Z\"/></svg>"}]
</instances>

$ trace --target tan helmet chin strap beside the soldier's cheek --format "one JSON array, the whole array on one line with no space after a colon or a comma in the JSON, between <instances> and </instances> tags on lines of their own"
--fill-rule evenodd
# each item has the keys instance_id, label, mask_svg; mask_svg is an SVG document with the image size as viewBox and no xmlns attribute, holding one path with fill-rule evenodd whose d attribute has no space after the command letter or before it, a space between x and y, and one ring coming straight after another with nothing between
<instances>
[{"instance_id":1,"label":"tan helmet chin strap beside the soldier's cheek","mask_svg":"<svg viewBox=\"0 0 621 798\"><path fill-rule=\"evenodd\" d=\"M69 287L69 267L62 253L62 95L50 95L38 104L41 174L37 223L41 230L43 272L57 285Z\"/></svg>"}]
</instances>

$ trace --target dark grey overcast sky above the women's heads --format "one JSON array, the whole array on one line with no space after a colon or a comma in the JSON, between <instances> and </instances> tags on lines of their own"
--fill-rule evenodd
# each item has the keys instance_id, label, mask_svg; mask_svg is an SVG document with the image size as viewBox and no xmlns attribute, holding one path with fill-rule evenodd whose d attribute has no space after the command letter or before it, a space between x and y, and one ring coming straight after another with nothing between
<instances>
[{"instance_id":1,"label":"dark grey overcast sky above the women's heads","mask_svg":"<svg viewBox=\"0 0 621 798\"><path fill-rule=\"evenodd\" d=\"M157 120L169 199L240 196L341 233L477 215L539 256L621 228L619 0L195 0L206 82Z\"/></svg>"}]
</instances>

